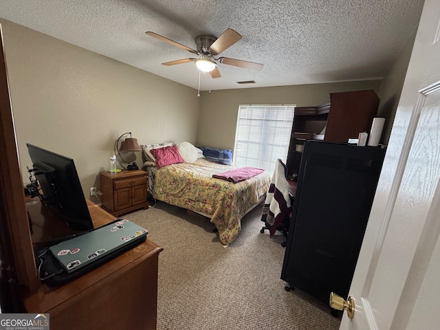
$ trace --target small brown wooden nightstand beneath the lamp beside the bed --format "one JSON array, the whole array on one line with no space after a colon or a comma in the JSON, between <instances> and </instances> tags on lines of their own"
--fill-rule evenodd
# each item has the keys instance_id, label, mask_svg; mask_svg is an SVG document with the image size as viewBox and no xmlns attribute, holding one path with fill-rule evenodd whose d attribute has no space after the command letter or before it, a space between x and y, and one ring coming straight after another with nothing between
<instances>
[{"instance_id":1,"label":"small brown wooden nightstand beneath the lamp beside the bed","mask_svg":"<svg viewBox=\"0 0 440 330\"><path fill-rule=\"evenodd\" d=\"M122 170L116 174L100 173L102 208L115 217L148 208L148 173L144 170Z\"/></svg>"}]
</instances>

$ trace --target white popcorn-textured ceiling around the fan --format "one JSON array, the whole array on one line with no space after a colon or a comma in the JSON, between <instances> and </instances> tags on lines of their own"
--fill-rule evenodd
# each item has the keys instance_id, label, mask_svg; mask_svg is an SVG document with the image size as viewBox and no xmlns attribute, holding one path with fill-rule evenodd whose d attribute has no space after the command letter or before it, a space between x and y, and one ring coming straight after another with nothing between
<instances>
[{"instance_id":1,"label":"white popcorn-textured ceiling around the fan","mask_svg":"<svg viewBox=\"0 0 440 330\"><path fill-rule=\"evenodd\" d=\"M259 72L219 64L201 90L382 78L415 32L423 0L1 0L0 17L197 89L195 36L227 28L243 39L221 56L263 63ZM236 82L254 80L253 85Z\"/></svg>"}]
</instances>

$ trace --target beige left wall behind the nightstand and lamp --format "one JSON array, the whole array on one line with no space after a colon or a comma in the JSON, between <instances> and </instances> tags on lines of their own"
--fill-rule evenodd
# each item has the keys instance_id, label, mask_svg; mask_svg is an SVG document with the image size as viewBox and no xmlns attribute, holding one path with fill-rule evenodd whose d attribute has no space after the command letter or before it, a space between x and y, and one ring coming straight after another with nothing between
<instances>
[{"instance_id":1,"label":"beige left wall behind the nightstand and lamp","mask_svg":"<svg viewBox=\"0 0 440 330\"><path fill-rule=\"evenodd\" d=\"M0 19L23 181L26 143L72 157L86 197L109 169L115 140L195 143L197 92L135 67ZM137 159L142 162L140 153ZM134 156L134 155L132 155Z\"/></svg>"}]
</instances>

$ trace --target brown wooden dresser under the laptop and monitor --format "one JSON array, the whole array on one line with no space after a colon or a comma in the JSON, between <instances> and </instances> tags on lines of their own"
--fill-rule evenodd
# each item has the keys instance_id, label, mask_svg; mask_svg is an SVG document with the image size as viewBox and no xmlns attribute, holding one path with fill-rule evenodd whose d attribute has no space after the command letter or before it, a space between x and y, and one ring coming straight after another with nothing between
<instances>
[{"instance_id":1,"label":"brown wooden dresser under the laptop and monitor","mask_svg":"<svg viewBox=\"0 0 440 330\"><path fill-rule=\"evenodd\" d=\"M113 221L111 214L87 203L95 227ZM47 223L47 213L39 205L28 209L35 228L32 239L39 240L37 228ZM50 314L51 330L156 329L157 262L162 250L147 239L61 287L41 284L23 296L25 309Z\"/></svg>"}]
</instances>

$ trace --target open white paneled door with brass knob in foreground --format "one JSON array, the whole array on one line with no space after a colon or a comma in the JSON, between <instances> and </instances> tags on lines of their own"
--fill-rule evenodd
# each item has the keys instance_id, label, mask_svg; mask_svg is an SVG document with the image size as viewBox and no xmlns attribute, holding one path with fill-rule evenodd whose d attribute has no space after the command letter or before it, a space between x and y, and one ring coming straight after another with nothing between
<instances>
[{"instance_id":1,"label":"open white paneled door with brass knob in foreground","mask_svg":"<svg viewBox=\"0 0 440 330\"><path fill-rule=\"evenodd\" d=\"M440 329L439 39L426 0L340 329Z\"/></svg>"}]
</instances>

